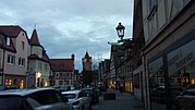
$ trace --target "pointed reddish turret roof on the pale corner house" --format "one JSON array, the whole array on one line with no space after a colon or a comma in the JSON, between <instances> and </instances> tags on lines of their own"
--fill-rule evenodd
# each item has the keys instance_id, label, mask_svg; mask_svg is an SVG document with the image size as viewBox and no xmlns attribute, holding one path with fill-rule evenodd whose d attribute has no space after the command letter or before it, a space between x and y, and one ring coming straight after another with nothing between
<instances>
[{"instance_id":1,"label":"pointed reddish turret roof on the pale corner house","mask_svg":"<svg viewBox=\"0 0 195 110\"><path fill-rule=\"evenodd\" d=\"M37 30L36 29L33 30L29 44L33 45L33 46L41 46L40 41L38 39L38 35L37 35Z\"/></svg>"}]
</instances>

